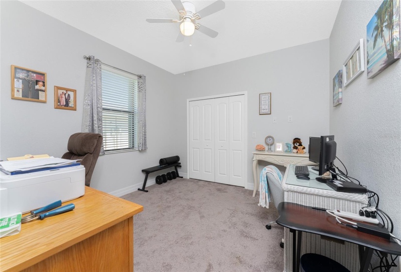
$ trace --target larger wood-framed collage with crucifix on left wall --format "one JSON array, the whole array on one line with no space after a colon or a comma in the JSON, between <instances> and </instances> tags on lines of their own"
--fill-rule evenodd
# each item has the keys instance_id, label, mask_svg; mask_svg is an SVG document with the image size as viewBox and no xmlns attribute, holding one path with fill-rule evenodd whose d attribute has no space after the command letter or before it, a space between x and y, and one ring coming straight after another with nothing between
<instances>
[{"instance_id":1,"label":"larger wood-framed collage with crucifix on left wall","mask_svg":"<svg viewBox=\"0 0 401 272\"><path fill-rule=\"evenodd\" d=\"M46 73L12 65L11 99L46 102Z\"/></svg>"}]
</instances>

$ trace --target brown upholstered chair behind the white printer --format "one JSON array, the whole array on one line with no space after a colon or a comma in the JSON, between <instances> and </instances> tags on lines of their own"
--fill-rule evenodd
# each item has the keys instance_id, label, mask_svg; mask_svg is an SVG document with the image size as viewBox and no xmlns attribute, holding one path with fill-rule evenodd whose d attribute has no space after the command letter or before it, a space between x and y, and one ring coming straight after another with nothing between
<instances>
[{"instance_id":1,"label":"brown upholstered chair behind the white printer","mask_svg":"<svg viewBox=\"0 0 401 272\"><path fill-rule=\"evenodd\" d=\"M85 167L85 185L90 185L90 178L95 169L100 149L102 147L103 136L97 133L75 133L68 140L67 149L61 158L68 160L81 159L81 165Z\"/></svg>"}]
</instances>

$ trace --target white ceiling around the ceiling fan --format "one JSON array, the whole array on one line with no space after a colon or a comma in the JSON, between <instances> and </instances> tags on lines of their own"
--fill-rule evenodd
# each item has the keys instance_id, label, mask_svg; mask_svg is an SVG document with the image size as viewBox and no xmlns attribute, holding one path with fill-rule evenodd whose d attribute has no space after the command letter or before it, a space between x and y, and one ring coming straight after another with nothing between
<instances>
[{"instance_id":1,"label":"white ceiling around the ceiling fan","mask_svg":"<svg viewBox=\"0 0 401 272\"><path fill-rule=\"evenodd\" d=\"M197 21L218 36L210 38L195 31L183 43L175 42L179 24L145 21L148 17L178 19L170 0L23 2L173 74L327 39L341 3L224 1L224 10ZM192 2L199 11L214 1Z\"/></svg>"}]
</instances>

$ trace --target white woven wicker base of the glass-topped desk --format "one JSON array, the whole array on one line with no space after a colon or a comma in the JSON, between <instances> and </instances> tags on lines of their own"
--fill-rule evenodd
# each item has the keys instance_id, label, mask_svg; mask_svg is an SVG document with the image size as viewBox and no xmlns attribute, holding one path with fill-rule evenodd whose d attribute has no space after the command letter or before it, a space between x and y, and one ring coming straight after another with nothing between
<instances>
[{"instance_id":1,"label":"white woven wicker base of the glass-topped desk","mask_svg":"<svg viewBox=\"0 0 401 272\"><path fill-rule=\"evenodd\" d=\"M367 204L367 197L363 194L340 193L323 189L286 185L285 181L290 168L287 168L282 182L284 201L307 206L328 209L340 209L357 213ZM292 172L292 174L294 174ZM334 241L321 239L320 236L310 233L302 234L301 255L316 253L325 255L342 265L351 272L359 271L358 246L345 242L340 244ZM284 272L292 272L292 234L284 228Z\"/></svg>"}]
</instances>

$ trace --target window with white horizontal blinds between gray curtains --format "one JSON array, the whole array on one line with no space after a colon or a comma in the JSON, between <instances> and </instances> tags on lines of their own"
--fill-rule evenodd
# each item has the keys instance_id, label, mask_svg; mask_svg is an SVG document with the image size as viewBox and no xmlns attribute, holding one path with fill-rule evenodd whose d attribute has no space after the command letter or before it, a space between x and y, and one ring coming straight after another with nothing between
<instances>
[{"instance_id":1,"label":"window with white horizontal blinds between gray curtains","mask_svg":"<svg viewBox=\"0 0 401 272\"><path fill-rule=\"evenodd\" d=\"M137 150L137 76L102 65L105 153Z\"/></svg>"}]
</instances>

